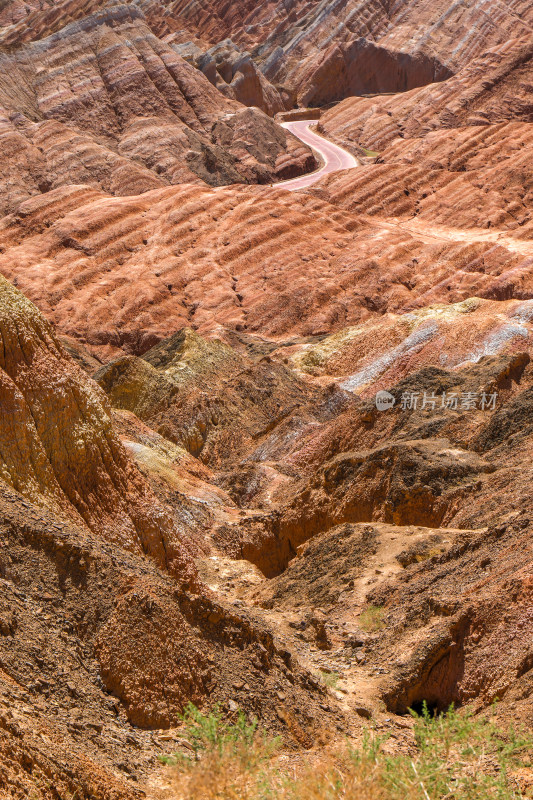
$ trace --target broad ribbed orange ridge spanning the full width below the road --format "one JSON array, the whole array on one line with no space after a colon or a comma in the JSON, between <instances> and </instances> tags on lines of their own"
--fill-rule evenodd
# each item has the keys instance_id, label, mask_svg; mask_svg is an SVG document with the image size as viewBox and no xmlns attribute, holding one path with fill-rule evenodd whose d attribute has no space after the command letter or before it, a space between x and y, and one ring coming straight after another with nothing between
<instances>
[{"instance_id":1,"label":"broad ribbed orange ridge spanning the full width below the road","mask_svg":"<svg viewBox=\"0 0 533 800\"><path fill-rule=\"evenodd\" d=\"M514 167L509 161L483 162L483 170L458 177L444 168L435 174L445 197L452 177L472 192L485 173L504 185ZM529 163L524 158L524 169ZM403 187L389 189L391 172L401 171L410 197ZM326 334L386 311L473 295L529 298L527 225L517 226L495 196L479 189L474 197L487 200L481 211L468 200L462 211L454 211L453 200L449 211L444 200L435 209L427 176L421 171L416 187L429 195L427 214L409 221L387 217L387 209L412 216L417 173L401 164L341 174L314 190L331 193L333 202L256 187L170 187L135 198L57 189L3 219L0 270L63 334L100 355L117 348L142 354L191 325L279 338ZM350 200L357 187L368 197L364 210L375 216L360 214L357 195ZM517 191L511 184L509 203ZM461 225L482 224L480 213L485 220L494 214L494 229L465 233Z\"/></svg>"}]
</instances>

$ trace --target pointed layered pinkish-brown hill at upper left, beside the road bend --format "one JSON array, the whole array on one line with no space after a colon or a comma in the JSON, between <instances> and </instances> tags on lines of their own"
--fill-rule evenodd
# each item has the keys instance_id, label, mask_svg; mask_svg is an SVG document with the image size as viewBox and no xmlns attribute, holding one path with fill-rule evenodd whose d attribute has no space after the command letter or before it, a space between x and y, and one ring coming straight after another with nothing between
<instances>
[{"instance_id":1,"label":"pointed layered pinkish-brown hill at upper left, beside the road bend","mask_svg":"<svg viewBox=\"0 0 533 800\"><path fill-rule=\"evenodd\" d=\"M68 183L139 194L265 183L315 163L264 113L224 98L134 6L98 11L0 63L4 211Z\"/></svg>"}]
</instances>

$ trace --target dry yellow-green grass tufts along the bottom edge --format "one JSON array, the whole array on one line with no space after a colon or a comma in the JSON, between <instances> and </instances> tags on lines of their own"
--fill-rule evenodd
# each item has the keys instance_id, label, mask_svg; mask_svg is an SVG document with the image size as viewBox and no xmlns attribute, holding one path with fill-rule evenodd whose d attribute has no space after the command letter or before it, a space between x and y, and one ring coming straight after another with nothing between
<instances>
[{"instance_id":1,"label":"dry yellow-green grass tufts along the bottom edge","mask_svg":"<svg viewBox=\"0 0 533 800\"><path fill-rule=\"evenodd\" d=\"M308 755L288 768L280 742L240 714L190 706L183 718L192 751L170 760L175 800L518 800L513 778L530 772L533 743L484 719L425 710L415 723L416 754L386 754L368 731L358 748Z\"/></svg>"}]
</instances>

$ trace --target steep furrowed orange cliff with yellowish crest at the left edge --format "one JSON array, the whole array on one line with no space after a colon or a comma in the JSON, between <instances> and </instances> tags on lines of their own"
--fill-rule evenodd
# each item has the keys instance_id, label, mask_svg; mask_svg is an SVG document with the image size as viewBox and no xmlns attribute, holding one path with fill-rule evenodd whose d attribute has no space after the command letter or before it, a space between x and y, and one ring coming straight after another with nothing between
<instances>
[{"instance_id":1,"label":"steep furrowed orange cliff with yellowish crest at the left edge","mask_svg":"<svg viewBox=\"0 0 533 800\"><path fill-rule=\"evenodd\" d=\"M105 395L4 278L0 292L2 480L104 541L150 553L194 585L187 542L126 455Z\"/></svg>"}]
</instances>

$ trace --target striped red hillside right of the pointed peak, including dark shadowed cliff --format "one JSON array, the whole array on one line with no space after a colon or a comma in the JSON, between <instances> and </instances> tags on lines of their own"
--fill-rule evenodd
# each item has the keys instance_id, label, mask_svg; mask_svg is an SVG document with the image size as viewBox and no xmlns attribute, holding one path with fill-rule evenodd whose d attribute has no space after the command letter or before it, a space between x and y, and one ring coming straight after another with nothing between
<instances>
[{"instance_id":1,"label":"striped red hillside right of the pointed peak, including dark shadowed cliff","mask_svg":"<svg viewBox=\"0 0 533 800\"><path fill-rule=\"evenodd\" d=\"M359 92L397 92L442 79L487 48L530 35L526 0L491 6L448 0L359 3L167 3L212 41L249 47L266 77L296 89L303 105Z\"/></svg>"}]
</instances>

